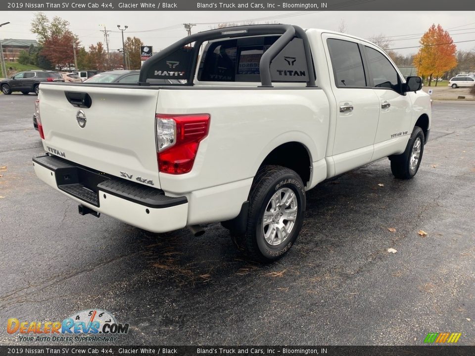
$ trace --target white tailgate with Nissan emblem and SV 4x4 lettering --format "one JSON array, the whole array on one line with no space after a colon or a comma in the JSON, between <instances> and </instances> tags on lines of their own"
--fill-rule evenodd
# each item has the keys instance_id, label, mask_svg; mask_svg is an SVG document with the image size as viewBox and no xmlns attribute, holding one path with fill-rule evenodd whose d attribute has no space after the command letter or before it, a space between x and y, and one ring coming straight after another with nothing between
<instances>
[{"instance_id":1,"label":"white tailgate with Nissan emblem and SV 4x4 lettering","mask_svg":"<svg viewBox=\"0 0 475 356\"><path fill-rule=\"evenodd\" d=\"M87 93L91 106L74 106L67 92ZM42 85L39 99L45 150L103 173L160 188L155 143L158 92ZM84 127L79 125L78 114L86 117Z\"/></svg>"}]
</instances>

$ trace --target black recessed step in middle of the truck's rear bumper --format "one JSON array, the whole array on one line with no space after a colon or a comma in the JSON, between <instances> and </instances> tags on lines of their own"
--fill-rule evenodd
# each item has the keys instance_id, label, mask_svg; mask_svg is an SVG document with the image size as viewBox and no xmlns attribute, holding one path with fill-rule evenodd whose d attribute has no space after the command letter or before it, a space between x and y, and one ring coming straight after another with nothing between
<instances>
[{"instance_id":1,"label":"black recessed step in middle of the truck's rear bumper","mask_svg":"<svg viewBox=\"0 0 475 356\"><path fill-rule=\"evenodd\" d=\"M108 177L81 167L58 168L55 175L58 189L99 207L97 184Z\"/></svg>"}]
</instances>

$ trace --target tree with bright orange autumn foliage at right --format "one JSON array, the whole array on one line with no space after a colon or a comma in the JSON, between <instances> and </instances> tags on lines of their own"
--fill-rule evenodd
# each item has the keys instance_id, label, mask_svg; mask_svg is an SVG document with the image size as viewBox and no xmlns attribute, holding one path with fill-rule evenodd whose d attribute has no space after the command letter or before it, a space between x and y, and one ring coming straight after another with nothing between
<instances>
[{"instance_id":1,"label":"tree with bright orange autumn foliage at right","mask_svg":"<svg viewBox=\"0 0 475 356\"><path fill-rule=\"evenodd\" d=\"M414 66L418 75L429 78L429 87L432 78L438 78L457 66L457 46L453 42L449 33L435 24L419 40L422 47L414 57Z\"/></svg>"}]
</instances>

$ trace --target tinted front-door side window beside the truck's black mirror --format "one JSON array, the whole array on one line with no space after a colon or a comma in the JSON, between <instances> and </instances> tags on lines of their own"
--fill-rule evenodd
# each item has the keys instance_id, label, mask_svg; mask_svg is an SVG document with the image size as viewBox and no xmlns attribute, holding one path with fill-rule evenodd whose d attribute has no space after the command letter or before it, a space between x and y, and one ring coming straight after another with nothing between
<instances>
[{"instance_id":1,"label":"tinted front-door side window beside the truck's black mirror","mask_svg":"<svg viewBox=\"0 0 475 356\"><path fill-rule=\"evenodd\" d=\"M397 72L387 58L376 49L365 46L370 79L377 88L397 89Z\"/></svg>"}]
</instances>

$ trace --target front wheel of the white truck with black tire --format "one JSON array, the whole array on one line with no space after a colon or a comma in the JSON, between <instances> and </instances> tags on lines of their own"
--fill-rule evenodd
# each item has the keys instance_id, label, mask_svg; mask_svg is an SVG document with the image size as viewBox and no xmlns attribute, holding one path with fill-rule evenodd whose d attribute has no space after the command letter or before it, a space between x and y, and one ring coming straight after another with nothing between
<instances>
[{"instance_id":1,"label":"front wheel of the white truck with black tire","mask_svg":"<svg viewBox=\"0 0 475 356\"><path fill-rule=\"evenodd\" d=\"M394 177L399 179L411 179L416 175L424 153L424 140L424 132L419 126L416 126L407 142L404 153L389 157L391 161L391 172ZM417 153L416 141L419 141L419 153ZM413 153L415 155L414 157L417 156L416 162L414 162L415 158L413 157ZM413 160L411 160L412 157Z\"/></svg>"}]
</instances>

